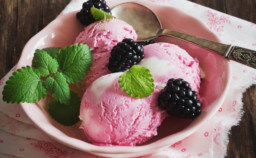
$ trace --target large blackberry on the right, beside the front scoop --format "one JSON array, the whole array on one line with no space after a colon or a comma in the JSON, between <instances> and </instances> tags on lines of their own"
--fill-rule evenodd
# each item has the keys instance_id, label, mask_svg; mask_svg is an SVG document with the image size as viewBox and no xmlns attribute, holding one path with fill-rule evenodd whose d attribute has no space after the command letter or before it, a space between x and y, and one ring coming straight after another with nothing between
<instances>
[{"instance_id":1,"label":"large blackberry on the right, beside the front scoop","mask_svg":"<svg viewBox=\"0 0 256 158\"><path fill-rule=\"evenodd\" d=\"M159 93L158 106L171 116L195 118L201 113L201 104L197 95L196 91L191 90L187 81L171 78Z\"/></svg>"}]
</instances>

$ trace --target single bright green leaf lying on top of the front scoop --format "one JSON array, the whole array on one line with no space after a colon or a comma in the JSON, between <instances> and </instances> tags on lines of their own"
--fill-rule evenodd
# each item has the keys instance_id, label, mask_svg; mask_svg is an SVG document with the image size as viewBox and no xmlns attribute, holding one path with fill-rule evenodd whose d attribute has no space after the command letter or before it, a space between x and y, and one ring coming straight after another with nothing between
<instances>
[{"instance_id":1,"label":"single bright green leaf lying on top of the front scoop","mask_svg":"<svg viewBox=\"0 0 256 158\"><path fill-rule=\"evenodd\" d=\"M119 77L119 85L128 95L137 98L148 97L154 91L154 80L146 67L133 65Z\"/></svg>"}]
</instances>

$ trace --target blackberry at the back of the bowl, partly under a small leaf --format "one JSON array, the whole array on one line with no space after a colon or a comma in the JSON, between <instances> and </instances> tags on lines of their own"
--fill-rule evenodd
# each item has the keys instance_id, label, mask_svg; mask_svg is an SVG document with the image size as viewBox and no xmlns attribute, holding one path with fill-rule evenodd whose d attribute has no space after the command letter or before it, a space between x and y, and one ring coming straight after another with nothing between
<instances>
[{"instance_id":1,"label":"blackberry at the back of the bowl, partly under a small leaf","mask_svg":"<svg viewBox=\"0 0 256 158\"><path fill-rule=\"evenodd\" d=\"M76 13L76 18L80 21L81 24L87 26L95 21L91 14L92 7L95 7L97 9L103 10L104 12L111 14L109 7L106 5L105 0L89 0L87 2L84 2L83 8L80 10L80 12Z\"/></svg>"}]
</instances>

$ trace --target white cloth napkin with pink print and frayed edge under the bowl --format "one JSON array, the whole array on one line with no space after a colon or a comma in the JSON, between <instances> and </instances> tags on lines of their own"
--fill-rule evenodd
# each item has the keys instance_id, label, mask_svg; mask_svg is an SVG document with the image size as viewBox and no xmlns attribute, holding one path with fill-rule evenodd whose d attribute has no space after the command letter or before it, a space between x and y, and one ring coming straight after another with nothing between
<instances>
[{"instance_id":1,"label":"white cloth napkin with pink print and frayed edge under the bowl","mask_svg":"<svg viewBox=\"0 0 256 158\"><path fill-rule=\"evenodd\" d=\"M163 3L182 9L204 21L226 44L256 50L256 24L212 10L186 0L147 0L148 3ZM79 10L85 0L72 0L61 12ZM170 147L145 157L197 158L224 157L228 133L237 125L243 114L242 92L256 83L256 71L232 62L233 76L224 104L214 117L200 130ZM15 67L0 80L0 92ZM2 93L0 94L2 98ZM96 156L64 146L49 138L32 125L19 105L9 105L0 99L0 157L67 158Z\"/></svg>"}]
</instances>

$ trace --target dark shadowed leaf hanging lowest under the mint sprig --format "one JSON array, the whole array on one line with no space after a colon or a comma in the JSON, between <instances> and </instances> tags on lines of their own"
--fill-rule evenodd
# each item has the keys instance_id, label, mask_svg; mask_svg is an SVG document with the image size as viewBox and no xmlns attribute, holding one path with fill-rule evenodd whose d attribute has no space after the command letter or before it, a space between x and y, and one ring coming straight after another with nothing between
<instances>
[{"instance_id":1,"label":"dark shadowed leaf hanging lowest under the mint sprig","mask_svg":"<svg viewBox=\"0 0 256 158\"><path fill-rule=\"evenodd\" d=\"M70 104L61 104L57 100L53 100L49 103L48 111L51 117L65 126L72 126L76 124L79 119L80 113L80 97L74 92L70 92Z\"/></svg>"}]
</instances>

